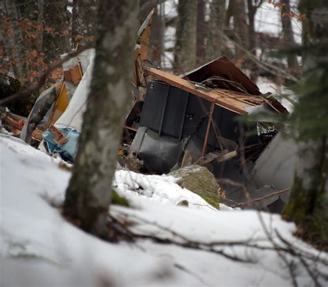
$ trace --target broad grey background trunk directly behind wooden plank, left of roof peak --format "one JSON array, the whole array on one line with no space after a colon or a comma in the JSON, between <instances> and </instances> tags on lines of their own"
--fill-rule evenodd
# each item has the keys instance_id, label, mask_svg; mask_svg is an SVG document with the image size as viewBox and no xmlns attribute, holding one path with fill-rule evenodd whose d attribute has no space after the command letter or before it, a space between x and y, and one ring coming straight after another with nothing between
<instances>
[{"instance_id":1,"label":"broad grey background trunk directly behind wooden plank, left of roof peak","mask_svg":"<svg viewBox=\"0 0 328 287\"><path fill-rule=\"evenodd\" d=\"M179 0L174 71L181 73L196 65L197 0Z\"/></svg>"}]
</instances>

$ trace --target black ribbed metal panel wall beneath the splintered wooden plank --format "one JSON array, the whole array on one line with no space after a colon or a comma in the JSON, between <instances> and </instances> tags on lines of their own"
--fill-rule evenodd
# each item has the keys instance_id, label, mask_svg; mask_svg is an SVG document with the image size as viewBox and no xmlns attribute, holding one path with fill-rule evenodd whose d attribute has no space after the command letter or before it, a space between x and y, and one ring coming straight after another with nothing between
<instances>
[{"instance_id":1,"label":"black ribbed metal panel wall beneath the splintered wooden plank","mask_svg":"<svg viewBox=\"0 0 328 287\"><path fill-rule=\"evenodd\" d=\"M197 136L205 139L211 102L169 84L151 81L148 84L140 125L172 138ZM215 107L212 115L219 136L237 140L236 113ZM181 131L182 128L182 131ZM219 148L215 129L210 127L208 145ZM210 150L208 150L210 151Z\"/></svg>"}]
</instances>

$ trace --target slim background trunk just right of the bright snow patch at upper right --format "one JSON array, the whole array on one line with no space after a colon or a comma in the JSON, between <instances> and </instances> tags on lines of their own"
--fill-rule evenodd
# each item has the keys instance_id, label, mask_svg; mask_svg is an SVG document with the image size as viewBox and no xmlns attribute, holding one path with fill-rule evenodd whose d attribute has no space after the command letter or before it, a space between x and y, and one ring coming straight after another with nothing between
<instances>
[{"instance_id":1,"label":"slim background trunk just right of the bright snow patch at upper right","mask_svg":"<svg viewBox=\"0 0 328 287\"><path fill-rule=\"evenodd\" d=\"M288 13L291 9L289 5L289 0L282 0L281 3L285 4L284 9L281 10L281 19L282 19L282 41L284 47L293 47L295 46L295 39L293 34L293 28L291 26L291 18L288 15L284 15L286 12ZM289 53L287 55L287 62L289 67L289 73L295 75L296 77L300 76L300 66L298 65L298 58L295 53Z\"/></svg>"}]
</instances>

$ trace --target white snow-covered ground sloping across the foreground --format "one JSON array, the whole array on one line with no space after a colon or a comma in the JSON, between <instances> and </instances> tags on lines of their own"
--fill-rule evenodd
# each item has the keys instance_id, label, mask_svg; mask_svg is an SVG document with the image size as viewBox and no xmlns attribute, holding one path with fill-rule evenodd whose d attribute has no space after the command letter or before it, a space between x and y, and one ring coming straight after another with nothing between
<instances>
[{"instance_id":1,"label":"white snow-covered ground sloping across the foreground","mask_svg":"<svg viewBox=\"0 0 328 287\"><path fill-rule=\"evenodd\" d=\"M66 222L55 206L64 200L70 172L51 158L10 136L0 135L1 286L291 286L286 263L274 250L218 246L220 254L174 244L138 240L107 243ZM131 207L111 206L131 229L161 239L190 241L249 241L262 247L284 239L319 254L293 237L295 225L280 216L255 211L221 210L176 185L174 178L145 176L121 170L114 183ZM189 207L176 206L187 200ZM260 223L260 220L264 225ZM204 246L205 248L205 246ZM327 254L319 254L327 258ZM313 281L297 259L300 286ZM323 267L318 265L319 269Z\"/></svg>"}]
</instances>

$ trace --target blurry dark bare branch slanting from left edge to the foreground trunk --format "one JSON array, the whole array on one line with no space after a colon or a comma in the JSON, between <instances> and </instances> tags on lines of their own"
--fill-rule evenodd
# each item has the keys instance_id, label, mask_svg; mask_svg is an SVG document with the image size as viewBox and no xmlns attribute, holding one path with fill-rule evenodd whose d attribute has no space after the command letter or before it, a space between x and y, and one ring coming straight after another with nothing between
<instances>
[{"instance_id":1,"label":"blurry dark bare branch slanting from left edge to the foreground trunk","mask_svg":"<svg viewBox=\"0 0 328 287\"><path fill-rule=\"evenodd\" d=\"M84 50L87 50L89 48L92 48L92 44L84 46L83 48L80 48L79 50L75 50L74 52L69 53L68 55L66 55L66 57L64 57L60 61L55 62L54 64L51 64L49 66L49 68L42 75L40 75L39 80L37 81L36 84L31 84L26 89L22 89L18 93L15 93L14 95L10 95L9 97L4 98L3 100L0 100L0 106L4 106L4 105L9 104L10 102L12 102L14 100L24 98L28 95L31 95L31 94L35 93L36 91L39 91L39 89L41 89L42 86L44 86L44 84L46 84L47 78L51 75L51 73L56 68L60 68L60 66L62 66L62 64L67 62L69 59L80 55L80 53L82 53Z\"/></svg>"}]
</instances>

